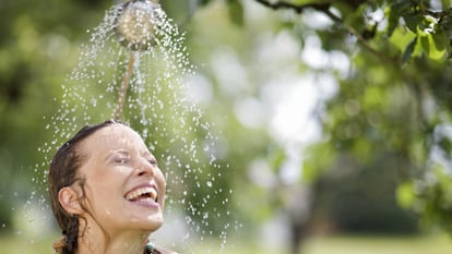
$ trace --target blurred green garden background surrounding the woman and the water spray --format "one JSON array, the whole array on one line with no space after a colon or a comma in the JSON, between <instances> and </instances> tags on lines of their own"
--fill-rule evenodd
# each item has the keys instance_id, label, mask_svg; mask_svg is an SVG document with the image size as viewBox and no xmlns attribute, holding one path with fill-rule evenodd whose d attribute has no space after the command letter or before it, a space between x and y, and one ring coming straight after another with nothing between
<instances>
[{"instance_id":1,"label":"blurred green garden background surrounding the woman and the water spray","mask_svg":"<svg viewBox=\"0 0 452 254\"><path fill-rule=\"evenodd\" d=\"M2 253L50 253L58 238L27 204L46 195L39 147L114 3L0 2ZM450 253L450 0L160 4L195 66L186 96L228 167L233 221L210 223L234 225L224 253ZM193 252L223 241L202 238Z\"/></svg>"}]
</instances>

